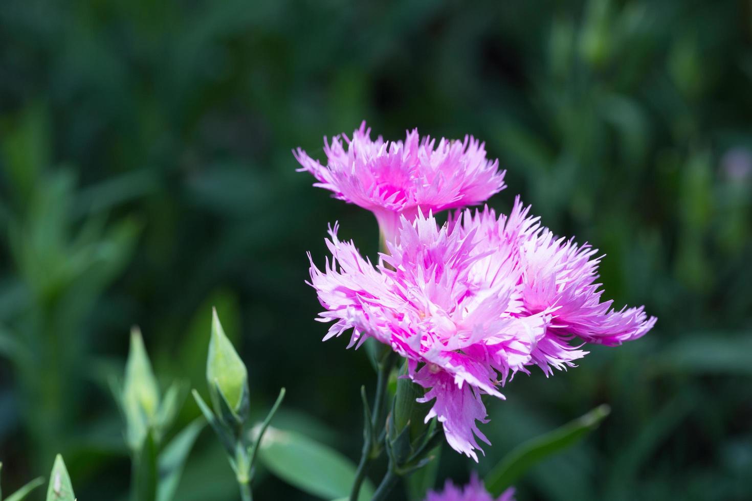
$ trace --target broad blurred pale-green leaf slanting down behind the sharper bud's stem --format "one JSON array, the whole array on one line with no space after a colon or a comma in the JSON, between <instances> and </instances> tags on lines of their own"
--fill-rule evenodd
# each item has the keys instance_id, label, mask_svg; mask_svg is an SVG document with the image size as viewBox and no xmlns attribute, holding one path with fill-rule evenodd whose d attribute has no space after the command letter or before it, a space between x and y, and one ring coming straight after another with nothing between
<instances>
[{"instance_id":1,"label":"broad blurred pale-green leaf slanting down behind the sharper bud's stem","mask_svg":"<svg viewBox=\"0 0 752 501\"><path fill-rule=\"evenodd\" d=\"M355 479L355 465L327 445L293 431L269 427L259 448L259 459L274 475L322 499L346 497ZM367 480L358 499L371 499Z\"/></svg>"}]
</instances>

